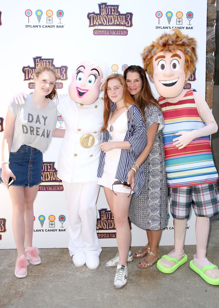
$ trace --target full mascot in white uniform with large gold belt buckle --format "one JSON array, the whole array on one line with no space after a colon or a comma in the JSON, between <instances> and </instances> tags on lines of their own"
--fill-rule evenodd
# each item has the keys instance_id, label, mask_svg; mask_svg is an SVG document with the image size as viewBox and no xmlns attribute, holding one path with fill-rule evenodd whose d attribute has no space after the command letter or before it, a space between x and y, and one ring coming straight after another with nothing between
<instances>
[{"instance_id":1,"label":"full mascot in white uniform with large gold belt buckle","mask_svg":"<svg viewBox=\"0 0 219 308\"><path fill-rule=\"evenodd\" d=\"M69 86L69 96L57 105L66 126L59 152L58 177L63 182L69 216L69 253L76 266L94 270L99 265L101 247L96 233L96 200L99 193L97 168L103 126L101 84L108 72L97 63L77 65Z\"/></svg>"}]
</instances>

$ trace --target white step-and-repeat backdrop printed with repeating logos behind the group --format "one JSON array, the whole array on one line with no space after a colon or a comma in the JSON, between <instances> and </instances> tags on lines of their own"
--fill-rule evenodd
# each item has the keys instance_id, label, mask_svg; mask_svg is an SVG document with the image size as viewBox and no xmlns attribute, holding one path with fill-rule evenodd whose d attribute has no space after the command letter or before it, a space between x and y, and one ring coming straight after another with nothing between
<instances>
[{"instance_id":1,"label":"white step-and-repeat backdrop printed with repeating logos behind the group","mask_svg":"<svg viewBox=\"0 0 219 308\"><path fill-rule=\"evenodd\" d=\"M132 64L142 65L140 53L164 31L175 27L198 42L198 63L188 88L205 95L207 0L2 1L0 4L0 144L7 105L14 93L33 89L34 69L51 65L59 72L58 93L68 93L75 66L99 59L112 73ZM152 86L157 97L155 87ZM64 128L62 118L57 127ZM43 156L42 183L34 203L34 245L67 247L68 213L63 186L57 178L60 139L53 139ZM9 194L0 185L0 248L15 248ZM160 245L173 245L173 220L163 231ZM100 244L116 246L116 230L103 188L97 201ZM146 243L146 232L132 224L132 245ZM195 244L195 215L187 222L186 244Z\"/></svg>"}]
</instances>

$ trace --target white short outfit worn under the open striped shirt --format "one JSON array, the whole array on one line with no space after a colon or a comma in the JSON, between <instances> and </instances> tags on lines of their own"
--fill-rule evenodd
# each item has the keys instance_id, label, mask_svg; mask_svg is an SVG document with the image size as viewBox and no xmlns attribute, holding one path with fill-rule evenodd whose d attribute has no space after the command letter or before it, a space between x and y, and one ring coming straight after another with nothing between
<instances>
[{"instance_id":1,"label":"white short outfit worn under the open striped shirt","mask_svg":"<svg viewBox=\"0 0 219 308\"><path fill-rule=\"evenodd\" d=\"M113 127L112 132L110 132L111 126ZM124 111L115 120L115 122L112 125L110 124L110 119L109 119L107 130L109 132L109 135L111 136L111 140L109 140L108 142L124 141L126 132L128 130L127 110ZM121 155L121 149L112 149L105 153L103 175L98 180L99 185L108 187L112 190L112 184L118 180L115 178L115 176L116 176L116 171L117 171L120 155ZM117 184L117 185L113 185L113 190L114 192L118 192L118 193L130 194L131 188L125 188L123 185Z\"/></svg>"}]
</instances>

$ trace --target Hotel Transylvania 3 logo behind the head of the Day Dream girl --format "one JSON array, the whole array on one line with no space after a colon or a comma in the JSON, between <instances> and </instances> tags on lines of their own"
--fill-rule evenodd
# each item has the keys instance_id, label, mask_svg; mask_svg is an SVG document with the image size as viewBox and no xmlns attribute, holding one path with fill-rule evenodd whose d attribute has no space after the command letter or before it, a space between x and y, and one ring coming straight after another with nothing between
<instances>
[{"instance_id":1,"label":"Hotel Transylvania 3 logo behind the head of the Day Dream girl","mask_svg":"<svg viewBox=\"0 0 219 308\"><path fill-rule=\"evenodd\" d=\"M55 70L58 79L59 80L67 80L68 79L68 67L67 66L60 66L56 67L54 64L54 59L48 58L48 59L43 59L42 57L35 57L33 58L34 60L34 66L30 67L28 66L23 66L22 72L24 73L24 81L29 81L34 79L34 72L40 68L40 67L51 67ZM30 82L28 83L29 89L34 89L34 83ZM63 83L62 82L56 82L55 83L56 89L62 89L63 88Z\"/></svg>"}]
</instances>

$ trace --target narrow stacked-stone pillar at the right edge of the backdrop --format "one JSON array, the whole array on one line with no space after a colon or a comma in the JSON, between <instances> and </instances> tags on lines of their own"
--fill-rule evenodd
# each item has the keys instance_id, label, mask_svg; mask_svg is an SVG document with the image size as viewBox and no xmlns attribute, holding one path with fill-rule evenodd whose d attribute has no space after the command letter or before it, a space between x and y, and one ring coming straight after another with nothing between
<instances>
[{"instance_id":1,"label":"narrow stacked-stone pillar at the right edge of the backdrop","mask_svg":"<svg viewBox=\"0 0 219 308\"><path fill-rule=\"evenodd\" d=\"M210 108L213 106L213 76L214 76L214 56L215 46L215 19L216 19L216 0L207 2L207 39L206 39L206 86L205 99Z\"/></svg>"}]
</instances>

